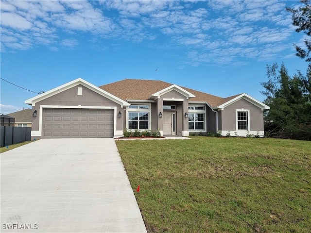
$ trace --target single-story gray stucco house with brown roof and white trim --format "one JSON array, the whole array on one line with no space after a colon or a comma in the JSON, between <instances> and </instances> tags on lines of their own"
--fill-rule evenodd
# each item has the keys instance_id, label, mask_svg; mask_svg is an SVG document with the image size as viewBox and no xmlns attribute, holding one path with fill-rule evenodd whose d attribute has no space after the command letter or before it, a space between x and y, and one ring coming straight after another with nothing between
<instances>
[{"instance_id":1,"label":"single-story gray stucco house with brown roof and white trim","mask_svg":"<svg viewBox=\"0 0 311 233\"><path fill-rule=\"evenodd\" d=\"M121 137L125 129L161 135L264 135L269 106L243 93L221 98L154 80L95 86L78 78L25 101L32 138Z\"/></svg>"}]
</instances>

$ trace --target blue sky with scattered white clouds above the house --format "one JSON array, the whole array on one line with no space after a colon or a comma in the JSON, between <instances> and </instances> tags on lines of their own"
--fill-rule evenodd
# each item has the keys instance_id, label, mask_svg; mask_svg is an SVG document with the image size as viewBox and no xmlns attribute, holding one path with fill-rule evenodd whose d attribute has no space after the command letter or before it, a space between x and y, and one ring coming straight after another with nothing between
<instances>
[{"instance_id":1,"label":"blue sky with scattered white clouds above the house","mask_svg":"<svg viewBox=\"0 0 311 233\"><path fill-rule=\"evenodd\" d=\"M83 78L94 85L162 80L220 97L262 101L266 65L303 45L286 6L299 1L1 1L1 78L40 92ZM1 113L36 94L1 80Z\"/></svg>"}]
</instances>

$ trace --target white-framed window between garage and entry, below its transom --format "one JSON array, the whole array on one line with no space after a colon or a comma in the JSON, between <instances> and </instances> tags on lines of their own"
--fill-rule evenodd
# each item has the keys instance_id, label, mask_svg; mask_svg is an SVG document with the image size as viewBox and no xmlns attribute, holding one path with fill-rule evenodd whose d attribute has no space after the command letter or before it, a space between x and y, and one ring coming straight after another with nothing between
<instances>
[{"instance_id":1,"label":"white-framed window between garage and entry, below its transom","mask_svg":"<svg viewBox=\"0 0 311 233\"><path fill-rule=\"evenodd\" d=\"M148 130L149 129L149 113L129 112L128 113L128 128L131 130L135 130L135 129Z\"/></svg>"}]
</instances>

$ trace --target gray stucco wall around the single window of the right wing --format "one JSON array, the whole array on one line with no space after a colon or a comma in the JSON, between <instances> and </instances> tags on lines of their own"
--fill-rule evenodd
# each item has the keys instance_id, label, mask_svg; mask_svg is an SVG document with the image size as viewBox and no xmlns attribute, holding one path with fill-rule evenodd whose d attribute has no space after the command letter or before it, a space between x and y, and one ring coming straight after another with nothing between
<instances>
[{"instance_id":1,"label":"gray stucco wall around the single window of the right wing","mask_svg":"<svg viewBox=\"0 0 311 233\"><path fill-rule=\"evenodd\" d=\"M221 130L236 131L236 109L249 110L249 131L263 131L263 111L247 100L238 100L221 112Z\"/></svg>"}]
</instances>

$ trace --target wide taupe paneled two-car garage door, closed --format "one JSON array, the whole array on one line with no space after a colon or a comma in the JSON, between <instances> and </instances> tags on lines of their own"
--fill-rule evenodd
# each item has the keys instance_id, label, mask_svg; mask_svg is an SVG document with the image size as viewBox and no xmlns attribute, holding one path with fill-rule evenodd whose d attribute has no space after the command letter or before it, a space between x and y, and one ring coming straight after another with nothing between
<instances>
[{"instance_id":1,"label":"wide taupe paneled two-car garage door, closed","mask_svg":"<svg viewBox=\"0 0 311 233\"><path fill-rule=\"evenodd\" d=\"M113 109L43 109L44 138L113 137Z\"/></svg>"}]
</instances>

